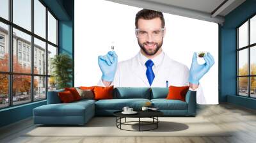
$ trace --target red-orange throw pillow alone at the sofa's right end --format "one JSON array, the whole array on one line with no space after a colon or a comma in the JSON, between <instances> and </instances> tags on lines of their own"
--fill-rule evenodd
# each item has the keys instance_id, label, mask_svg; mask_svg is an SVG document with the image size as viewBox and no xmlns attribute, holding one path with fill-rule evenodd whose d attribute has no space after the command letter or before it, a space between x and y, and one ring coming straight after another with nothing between
<instances>
[{"instance_id":1,"label":"red-orange throw pillow alone at the sofa's right end","mask_svg":"<svg viewBox=\"0 0 256 143\"><path fill-rule=\"evenodd\" d=\"M185 102L189 86L169 86L168 100L182 100Z\"/></svg>"}]
</instances>

